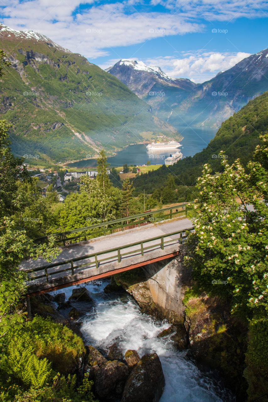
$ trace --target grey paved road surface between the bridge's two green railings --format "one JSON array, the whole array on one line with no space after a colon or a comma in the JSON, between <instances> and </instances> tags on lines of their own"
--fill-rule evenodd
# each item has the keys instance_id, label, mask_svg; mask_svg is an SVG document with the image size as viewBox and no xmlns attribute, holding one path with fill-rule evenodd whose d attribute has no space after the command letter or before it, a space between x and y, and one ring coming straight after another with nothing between
<instances>
[{"instance_id":1,"label":"grey paved road surface between the bridge's two green railings","mask_svg":"<svg viewBox=\"0 0 268 402\"><path fill-rule=\"evenodd\" d=\"M190 221L190 219L175 218L168 221L164 221L163 223L159 222L157 224L149 224L146 226L142 226L140 228L124 230L124 232L116 232L113 234L109 234L107 236L101 236L84 242L70 244L70 246L60 247L62 252L59 254L57 258L55 258L52 261L52 263L57 263L71 258L93 254L95 252L109 250L111 248L118 248L119 246L140 242L142 240L161 236L163 234L176 232L190 227L192 227L192 222ZM159 243L159 240L157 240L155 243ZM148 242L146 245L151 244L153 243ZM129 250L131 250L131 248L125 249L122 252L126 252ZM109 254L107 254L107 256L108 255ZM24 260L21 263L21 269L23 270L33 269L36 267L46 266L47 264L48 263L43 259Z\"/></svg>"}]
</instances>

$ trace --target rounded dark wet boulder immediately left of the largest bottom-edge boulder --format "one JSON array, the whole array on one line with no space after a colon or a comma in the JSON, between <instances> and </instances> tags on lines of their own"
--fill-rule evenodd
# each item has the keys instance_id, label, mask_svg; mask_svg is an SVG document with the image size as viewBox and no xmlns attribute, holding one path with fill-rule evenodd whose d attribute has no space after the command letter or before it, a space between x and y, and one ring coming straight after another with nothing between
<instances>
[{"instance_id":1,"label":"rounded dark wet boulder immediately left of the largest bottom-edge boulder","mask_svg":"<svg viewBox=\"0 0 268 402\"><path fill-rule=\"evenodd\" d=\"M122 394L128 367L121 361L107 361L94 371L95 392L99 398L112 398Z\"/></svg>"}]
</instances>

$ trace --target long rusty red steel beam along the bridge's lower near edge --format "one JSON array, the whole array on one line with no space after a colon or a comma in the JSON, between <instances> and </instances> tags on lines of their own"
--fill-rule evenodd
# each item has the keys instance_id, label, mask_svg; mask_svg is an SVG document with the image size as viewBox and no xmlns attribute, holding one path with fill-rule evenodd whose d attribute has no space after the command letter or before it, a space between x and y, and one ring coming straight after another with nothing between
<instances>
[{"instance_id":1,"label":"long rusty red steel beam along the bridge's lower near edge","mask_svg":"<svg viewBox=\"0 0 268 402\"><path fill-rule=\"evenodd\" d=\"M175 251L175 252L172 252L170 254L162 255L162 256L157 257L157 258L152 258L151 260L143 261L142 263L136 263L136 264L129 265L128 267L113 269L112 271L107 271L107 272L104 272L104 273L99 274L99 275L93 275L93 276L89 276L87 278L82 278L82 279L78 279L76 281L71 281L71 282L68 282L68 283L64 283L63 285L53 286L51 288L35 291L33 293L27 293L27 296L28 297L29 296L37 296L37 295L40 295L41 293L53 292L54 290L64 289L66 287L70 287L70 286L73 286L73 285L79 285L80 283L89 282L89 281L95 281L95 280L101 279L101 278L106 278L106 277L109 277L111 275L115 275L115 274L118 274L118 273L121 273L121 272L130 271L131 269L135 269L135 268L138 268L138 267L143 267L144 265L157 263L157 261L167 260L168 258L175 257L175 256L179 255L180 252L181 252L180 250Z\"/></svg>"}]
</instances>

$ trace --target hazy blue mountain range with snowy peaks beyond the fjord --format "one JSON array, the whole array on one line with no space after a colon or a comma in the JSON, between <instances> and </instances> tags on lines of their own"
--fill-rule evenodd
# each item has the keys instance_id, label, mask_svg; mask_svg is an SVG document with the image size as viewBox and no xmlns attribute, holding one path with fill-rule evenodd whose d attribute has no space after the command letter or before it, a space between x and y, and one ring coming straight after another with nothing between
<instances>
[{"instance_id":1,"label":"hazy blue mountain range with snowy peaks beyond the fjord","mask_svg":"<svg viewBox=\"0 0 268 402\"><path fill-rule=\"evenodd\" d=\"M175 127L219 127L249 100L268 90L268 49L246 57L202 84L171 78L159 67L134 60L122 59L107 71Z\"/></svg>"}]
</instances>

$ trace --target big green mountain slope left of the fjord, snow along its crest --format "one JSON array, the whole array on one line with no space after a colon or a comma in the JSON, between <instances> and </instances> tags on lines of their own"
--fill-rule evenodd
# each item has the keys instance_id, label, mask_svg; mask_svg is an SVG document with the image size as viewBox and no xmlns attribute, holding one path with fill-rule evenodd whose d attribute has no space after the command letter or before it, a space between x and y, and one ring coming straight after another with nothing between
<instances>
[{"instance_id":1,"label":"big green mountain slope left of the fjord, snow along its crest","mask_svg":"<svg viewBox=\"0 0 268 402\"><path fill-rule=\"evenodd\" d=\"M48 162L90 158L141 142L140 133L178 131L148 112L122 82L33 31L0 25L12 66L0 86L0 117L13 124L12 152Z\"/></svg>"}]
</instances>

